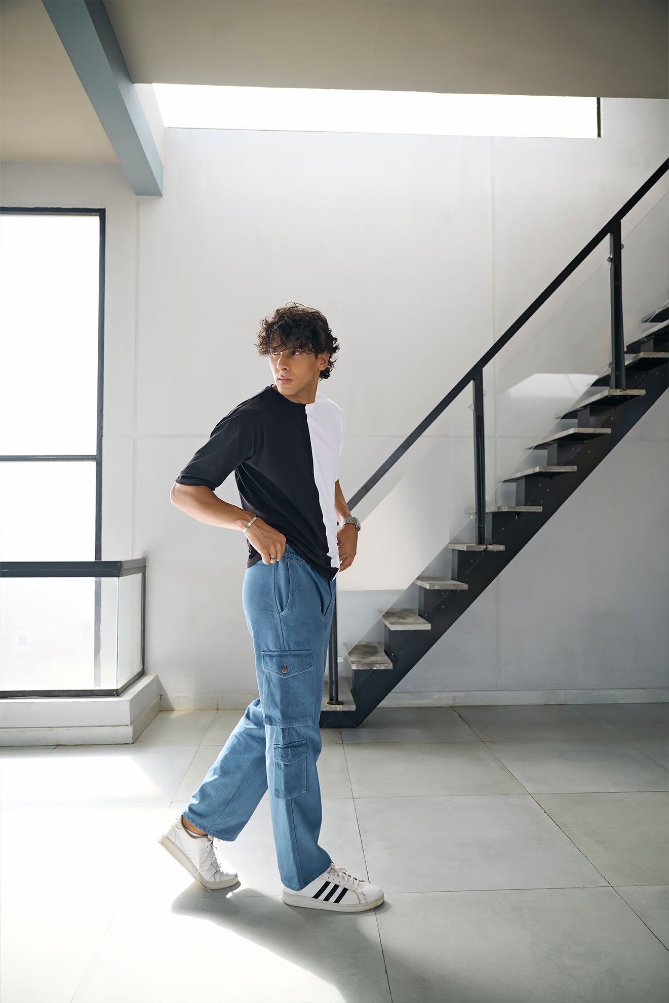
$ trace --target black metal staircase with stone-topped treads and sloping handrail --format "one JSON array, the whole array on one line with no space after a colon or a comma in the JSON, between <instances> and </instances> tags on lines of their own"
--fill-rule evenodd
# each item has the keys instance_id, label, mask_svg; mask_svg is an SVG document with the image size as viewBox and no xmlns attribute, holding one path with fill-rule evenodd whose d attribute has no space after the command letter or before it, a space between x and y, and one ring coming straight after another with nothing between
<instances>
[{"instance_id":1,"label":"black metal staircase with stone-topped treads and sloping handrail","mask_svg":"<svg viewBox=\"0 0 669 1003\"><path fill-rule=\"evenodd\" d=\"M654 310L638 318L638 333L627 343L624 341L620 281L620 253L624 245L620 241L620 221L659 181L668 166L669 161L665 161L558 277L560 282L564 281L597 243L607 235L611 236L612 256L608 261L612 276L612 358L609 366L573 406L553 415L554 420L573 421L573 425L529 442L527 449L532 452L531 461L500 482L515 487L514 505L486 505L484 500L483 391L480 374L483 364L520 328L520 322L525 323L537 306L552 295L560 284L558 280L538 297L519 322L512 325L467 374L474 386L476 450L476 507L468 512L476 520L477 542L446 543L446 549L452 552L450 575L418 576L414 582L418 593L417 609L387 609L380 617L383 641L360 641L353 645L347 652L350 677L341 680L337 673L335 608L330 672L329 677L326 674L321 705L321 727L353 728L361 724L667 390L669 301L656 302ZM446 403L467 377L444 398ZM436 416L435 412L439 413L439 410L435 408L430 412L430 420ZM476 424L478 418L479 425ZM354 495L348 503L349 508L352 509L352 503L358 501L369 486L383 475L407 443L415 441L416 432L420 434L424 430L426 421L421 422L418 429Z\"/></svg>"}]
</instances>

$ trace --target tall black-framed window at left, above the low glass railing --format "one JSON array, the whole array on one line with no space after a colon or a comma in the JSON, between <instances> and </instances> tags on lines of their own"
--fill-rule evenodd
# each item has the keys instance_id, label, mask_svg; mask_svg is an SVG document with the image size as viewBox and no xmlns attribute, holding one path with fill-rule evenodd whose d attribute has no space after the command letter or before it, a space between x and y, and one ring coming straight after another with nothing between
<instances>
[{"instance_id":1,"label":"tall black-framed window at left, above the low glass railing","mask_svg":"<svg viewBox=\"0 0 669 1003\"><path fill-rule=\"evenodd\" d=\"M0 217L0 555L101 557L104 210Z\"/></svg>"}]
</instances>

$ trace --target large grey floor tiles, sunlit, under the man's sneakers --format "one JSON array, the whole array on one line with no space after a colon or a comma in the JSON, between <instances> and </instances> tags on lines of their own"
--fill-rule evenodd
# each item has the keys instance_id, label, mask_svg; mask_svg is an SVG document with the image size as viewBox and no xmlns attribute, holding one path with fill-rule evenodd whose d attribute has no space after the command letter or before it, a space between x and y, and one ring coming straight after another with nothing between
<instances>
[{"instance_id":1,"label":"large grey floor tiles, sunlit, under the man's sneakers","mask_svg":"<svg viewBox=\"0 0 669 1003\"><path fill-rule=\"evenodd\" d=\"M230 892L155 841L242 711L3 748L2 1003L666 1003L666 704L377 709L323 731L320 843L381 885L282 903L267 793Z\"/></svg>"}]
</instances>

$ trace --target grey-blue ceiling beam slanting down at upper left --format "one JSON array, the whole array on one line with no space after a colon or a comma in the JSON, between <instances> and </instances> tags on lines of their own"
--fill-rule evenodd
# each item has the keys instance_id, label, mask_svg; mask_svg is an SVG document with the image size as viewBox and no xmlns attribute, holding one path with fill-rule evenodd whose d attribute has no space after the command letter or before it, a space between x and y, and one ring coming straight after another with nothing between
<instances>
[{"instance_id":1,"label":"grey-blue ceiling beam slanting down at upper left","mask_svg":"<svg viewBox=\"0 0 669 1003\"><path fill-rule=\"evenodd\" d=\"M162 195L162 161L102 0L42 0L135 195Z\"/></svg>"}]
</instances>

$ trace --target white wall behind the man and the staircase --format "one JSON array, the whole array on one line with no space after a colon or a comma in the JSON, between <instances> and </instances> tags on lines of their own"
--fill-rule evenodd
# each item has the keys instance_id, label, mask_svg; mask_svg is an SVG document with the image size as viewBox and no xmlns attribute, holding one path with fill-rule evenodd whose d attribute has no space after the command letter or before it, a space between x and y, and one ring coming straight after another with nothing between
<instances>
[{"instance_id":1,"label":"white wall behind the man and the staircase","mask_svg":"<svg viewBox=\"0 0 669 1003\"><path fill-rule=\"evenodd\" d=\"M340 338L319 388L350 496L660 164L666 111L604 99L602 140L169 130L161 199L113 165L2 165L3 205L107 208L103 557L148 558L164 693L257 695L245 540L169 494L270 382L260 319L297 300ZM400 688L666 685L666 454L665 399Z\"/></svg>"}]
</instances>

